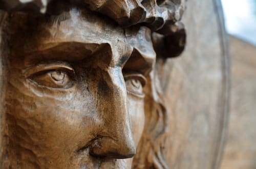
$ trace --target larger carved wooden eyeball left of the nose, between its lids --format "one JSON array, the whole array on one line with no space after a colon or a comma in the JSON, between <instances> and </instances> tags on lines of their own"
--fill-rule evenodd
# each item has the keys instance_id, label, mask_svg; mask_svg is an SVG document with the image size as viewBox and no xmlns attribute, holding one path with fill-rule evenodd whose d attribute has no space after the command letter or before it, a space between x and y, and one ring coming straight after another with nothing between
<instances>
[{"instance_id":1,"label":"larger carved wooden eyeball left of the nose, between its lids","mask_svg":"<svg viewBox=\"0 0 256 169\"><path fill-rule=\"evenodd\" d=\"M35 74L30 79L38 85L50 88L69 88L72 81L71 75L64 70L51 70Z\"/></svg>"}]
</instances>

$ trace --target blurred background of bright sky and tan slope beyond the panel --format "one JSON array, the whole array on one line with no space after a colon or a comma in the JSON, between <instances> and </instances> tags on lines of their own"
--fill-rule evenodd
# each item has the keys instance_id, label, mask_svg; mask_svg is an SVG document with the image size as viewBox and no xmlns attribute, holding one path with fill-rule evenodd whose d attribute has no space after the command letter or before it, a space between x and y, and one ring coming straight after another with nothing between
<instances>
[{"instance_id":1,"label":"blurred background of bright sky and tan slope beyond the panel","mask_svg":"<svg viewBox=\"0 0 256 169\"><path fill-rule=\"evenodd\" d=\"M222 0L231 57L231 103L221 169L256 169L256 0Z\"/></svg>"}]
</instances>

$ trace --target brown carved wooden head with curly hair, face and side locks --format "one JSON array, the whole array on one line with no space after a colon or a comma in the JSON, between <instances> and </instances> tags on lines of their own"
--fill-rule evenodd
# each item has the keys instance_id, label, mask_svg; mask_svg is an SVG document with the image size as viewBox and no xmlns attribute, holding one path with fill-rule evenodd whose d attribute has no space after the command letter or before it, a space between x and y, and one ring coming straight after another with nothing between
<instances>
[{"instance_id":1,"label":"brown carved wooden head with curly hair, face and side locks","mask_svg":"<svg viewBox=\"0 0 256 169\"><path fill-rule=\"evenodd\" d=\"M184 50L185 1L0 9L1 168L172 165L162 68Z\"/></svg>"}]
</instances>

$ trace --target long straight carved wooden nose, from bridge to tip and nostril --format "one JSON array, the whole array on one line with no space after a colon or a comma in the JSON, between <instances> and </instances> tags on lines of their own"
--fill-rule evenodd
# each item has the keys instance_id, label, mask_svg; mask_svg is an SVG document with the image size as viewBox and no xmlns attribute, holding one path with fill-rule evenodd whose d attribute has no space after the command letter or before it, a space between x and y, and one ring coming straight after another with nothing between
<instances>
[{"instance_id":1,"label":"long straight carved wooden nose, from bridge to tip and nostril","mask_svg":"<svg viewBox=\"0 0 256 169\"><path fill-rule=\"evenodd\" d=\"M109 158L133 157L136 148L121 68L111 68L103 73L97 93L98 113L102 119L102 126L91 145L91 154Z\"/></svg>"}]
</instances>

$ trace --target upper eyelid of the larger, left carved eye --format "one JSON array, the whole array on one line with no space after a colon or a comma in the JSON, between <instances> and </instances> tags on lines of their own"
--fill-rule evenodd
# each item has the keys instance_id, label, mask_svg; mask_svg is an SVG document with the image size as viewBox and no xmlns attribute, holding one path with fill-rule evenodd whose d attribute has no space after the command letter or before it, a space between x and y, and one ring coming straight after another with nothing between
<instances>
[{"instance_id":1,"label":"upper eyelid of the larger, left carved eye","mask_svg":"<svg viewBox=\"0 0 256 169\"><path fill-rule=\"evenodd\" d=\"M25 77L30 77L35 73L43 72L43 71L50 71L50 70L69 70L72 72L73 75L75 75L74 69L68 65L67 63L44 63L44 64L38 64L36 66L29 67L27 69L23 70L23 73Z\"/></svg>"}]
</instances>

